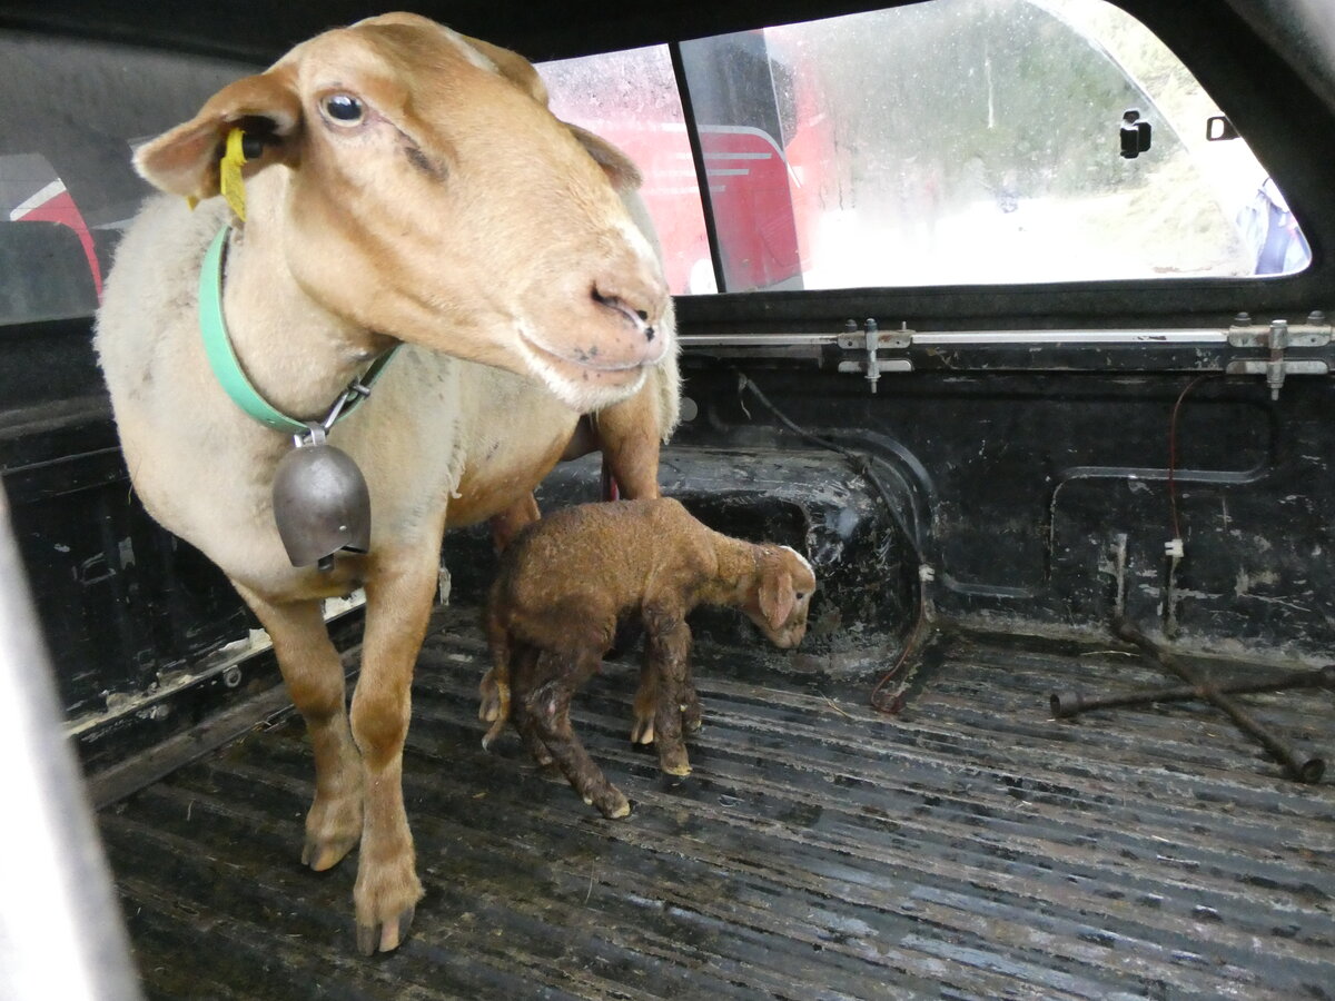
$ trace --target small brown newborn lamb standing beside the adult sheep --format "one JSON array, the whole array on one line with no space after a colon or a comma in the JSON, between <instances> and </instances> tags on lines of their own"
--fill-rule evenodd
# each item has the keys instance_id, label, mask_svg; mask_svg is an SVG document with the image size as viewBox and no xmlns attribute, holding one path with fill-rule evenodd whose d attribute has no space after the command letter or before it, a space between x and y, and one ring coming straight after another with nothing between
<instances>
[{"instance_id":1,"label":"small brown newborn lamb standing beside the adult sheep","mask_svg":"<svg viewBox=\"0 0 1335 1001\"><path fill-rule=\"evenodd\" d=\"M479 715L493 725L482 743L513 715L541 766L554 761L586 803L625 817L626 797L570 727L570 699L598 670L618 619L637 615L645 627L631 739L657 743L662 770L686 775L682 727L701 725L686 614L697 605L741 609L788 649L806 634L814 589L812 565L794 550L722 535L670 498L557 511L501 557L483 617L493 667Z\"/></svg>"}]
</instances>

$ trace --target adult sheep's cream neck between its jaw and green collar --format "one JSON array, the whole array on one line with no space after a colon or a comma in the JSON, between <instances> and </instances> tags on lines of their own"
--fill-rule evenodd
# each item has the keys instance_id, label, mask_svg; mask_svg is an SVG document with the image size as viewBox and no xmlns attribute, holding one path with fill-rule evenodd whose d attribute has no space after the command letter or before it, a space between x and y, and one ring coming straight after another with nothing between
<instances>
[{"instance_id":1,"label":"adult sheep's cream neck between its jaw and green collar","mask_svg":"<svg viewBox=\"0 0 1335 1001\"><path fill-rule=\"evenodd\" d=\"M223 312L232 348L259 394L298 420L323 419L335 398L392 342L350 324L298 284L279 226L251 199L246 232L232 238Z\"/></svg>"}]
</instances>

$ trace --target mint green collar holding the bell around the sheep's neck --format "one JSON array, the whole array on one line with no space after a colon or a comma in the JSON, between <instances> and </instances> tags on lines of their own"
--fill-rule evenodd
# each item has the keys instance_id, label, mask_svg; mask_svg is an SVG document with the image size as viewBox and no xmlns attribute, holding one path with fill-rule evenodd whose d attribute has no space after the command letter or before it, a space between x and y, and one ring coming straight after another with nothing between
<instances>
[{"instance_id":1,"label":"mint green collar holding the bell around the sheep's neck","mask_svg":"<svg viewBox=\"0 0 1335 1001\"><path fill-rule=\"evenodd\" d=\"M307 435L311 431L310 422L287 416L259 395L259 390L246 378L240 359L236 358L236 350L232 347L232 339L227 335L227 322L223 319L223 258L227 254L230 232L230 226L224 226L219 231L208 246L204 263L199 270L199 328L204 335L208 364L212 366L214 376L232 398L232 402L252 418L275 431ZM396 350L398 346L391 347L371 362L371 367L360 379L351 382L334 402L328 416L323 422L318 422L323 423L326 431L332 427L335 420L350 414L364 396L370 395L371 384L384 371L384 366Z\"/></svg>"}]
</instances>

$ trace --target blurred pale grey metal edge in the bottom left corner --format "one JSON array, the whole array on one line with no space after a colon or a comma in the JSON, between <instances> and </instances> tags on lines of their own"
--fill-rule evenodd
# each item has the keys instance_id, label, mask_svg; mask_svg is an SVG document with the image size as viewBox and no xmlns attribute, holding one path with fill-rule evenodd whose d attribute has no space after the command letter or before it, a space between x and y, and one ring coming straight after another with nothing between
<instances>
[{"instance_id":1,"label":"blurred pale grey metal edge in the bottom left corner","mask_svg":"<svg viewBox=\"0 0 1335 1001\"><path fill-rule=\"evenodd\" d=\"M0 997L142 997L0 492Z\"/></svg>"}]
</instances>

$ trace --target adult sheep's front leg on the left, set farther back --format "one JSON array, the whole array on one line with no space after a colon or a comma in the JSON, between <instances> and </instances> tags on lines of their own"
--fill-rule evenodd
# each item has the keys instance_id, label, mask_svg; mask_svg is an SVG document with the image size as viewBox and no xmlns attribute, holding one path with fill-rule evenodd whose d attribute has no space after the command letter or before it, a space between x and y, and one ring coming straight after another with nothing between
<instances>
[{"instance_id":1,"label":"adult sheep's front leg on the left, set farther back","mask_svg":"<svg viewBox=\"0 0 1335 1001\"><path fill-rule=\"evenodd\" d=\"M362 837L362 758L347 725L343 662L319 602L276 605L240 585L236 590L268 630L287 694L311 737L315 798L306 814L302 864L330 869Z\"/></svg>"}]
</instances>

